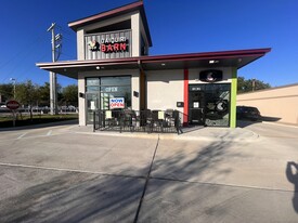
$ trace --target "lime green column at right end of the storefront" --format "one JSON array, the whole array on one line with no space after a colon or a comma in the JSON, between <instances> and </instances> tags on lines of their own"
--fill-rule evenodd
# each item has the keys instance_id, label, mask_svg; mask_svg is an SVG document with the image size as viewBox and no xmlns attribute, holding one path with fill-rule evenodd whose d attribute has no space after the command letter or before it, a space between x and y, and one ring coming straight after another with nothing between
<instances>
[{"instance_id":1,"label":"lime green column at right end of the storefront","mask_svg":"<svg viewBox=\"0 0 298 223\"><path fill-rule=\"evenodd\" d=\"M232 68L230 128L236 128L237 68Z\"/></svg>"}]
</instances>

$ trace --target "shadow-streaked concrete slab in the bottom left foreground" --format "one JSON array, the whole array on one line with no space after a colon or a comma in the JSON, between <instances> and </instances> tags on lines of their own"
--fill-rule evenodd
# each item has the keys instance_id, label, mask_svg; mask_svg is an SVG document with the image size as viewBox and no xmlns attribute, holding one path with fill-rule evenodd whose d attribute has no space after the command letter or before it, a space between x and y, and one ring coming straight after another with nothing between
<instances>
[{"instance_id":1,"label":"shadow-streaked concrete slab in the bottom left foreground","mask_svg":"<svg viewBox=\"0 0 298 223\"><path fill-rule=\"evenodd\" d=\"M0 222L133 222L145 180L0 168Z\"/></svg>"}]
</instances>

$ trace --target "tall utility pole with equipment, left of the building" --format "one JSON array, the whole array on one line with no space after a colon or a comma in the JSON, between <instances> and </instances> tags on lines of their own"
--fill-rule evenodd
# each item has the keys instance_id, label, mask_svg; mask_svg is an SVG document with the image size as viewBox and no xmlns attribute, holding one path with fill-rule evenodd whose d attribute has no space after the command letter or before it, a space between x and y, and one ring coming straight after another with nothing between
<instances>
[{"instance_id":1,"label":"tall utility pole with equipment, left of the building","mask_svg":"<svg viewBox=\"0 0 298 223\"><path fill-rule=\"evenodd\" d=\"M52 31L52 61L56 62L60 53L61 53L61 40L62 35L55 35L55 23L52 23L52 25L48 28L47 31ZM56 49L59 49L59 52L56 52ZM57 115L57 79L56 74L50 71L50 108L51 108L51 115Z\"/></svg>"}]
</instances>

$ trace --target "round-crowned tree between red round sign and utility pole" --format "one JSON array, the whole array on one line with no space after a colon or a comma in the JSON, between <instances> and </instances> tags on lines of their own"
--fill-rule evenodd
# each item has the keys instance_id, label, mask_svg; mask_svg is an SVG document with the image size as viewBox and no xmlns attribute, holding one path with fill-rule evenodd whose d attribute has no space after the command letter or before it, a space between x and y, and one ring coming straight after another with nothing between
<instances>
[{"instance_id":1,"label":"round-crowned tree between red round sign and utility pole","mask_svg":"<svg viewBox=\"0 0 298 223\"><path fill-rule=\"evenodd\" d=\"M15 97L21 104L29 106L30 119L33 120L33 106L38 106L40 101L39 86L34 84L30 80L27 80L24 83L18 83L15 88Z\"/></svg>"}]
</instances>

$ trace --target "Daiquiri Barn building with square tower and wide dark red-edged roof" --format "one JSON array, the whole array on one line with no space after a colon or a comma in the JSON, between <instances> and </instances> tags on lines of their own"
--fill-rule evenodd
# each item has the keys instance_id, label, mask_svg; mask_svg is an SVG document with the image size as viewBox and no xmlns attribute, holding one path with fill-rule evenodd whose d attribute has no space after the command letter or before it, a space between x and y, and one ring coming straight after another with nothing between
<instances>
[{"instance_id":1,"label":"Daiquiri Barn building with square tower and wide dark red-edged roof","mask_svg":"<svg viewBox=\"0 0 298 223\"><path fill-rule=\"evenodd\" d=\"M93 112L167 110L183 124L236 126L237 69L270 49L148 55L150 28L142 1L68 24L77 34L77 61L38 63L78 79L79 124ZM154 28L154 27L153 27Z\"/></svg>"}]
</instances>

